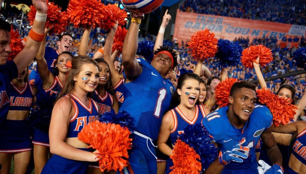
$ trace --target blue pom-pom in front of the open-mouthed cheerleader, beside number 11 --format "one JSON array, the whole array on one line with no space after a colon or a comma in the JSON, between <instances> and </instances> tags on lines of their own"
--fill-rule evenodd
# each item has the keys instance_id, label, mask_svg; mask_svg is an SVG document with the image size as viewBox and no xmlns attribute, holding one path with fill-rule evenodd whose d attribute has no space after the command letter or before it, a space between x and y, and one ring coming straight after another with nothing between
<instances>
[{"instance_id":1,"label":"blue pom-pom in front of the open-mouthed cheerleader, beside number 11","mask_svg":"<svg viewBox=\"0 0 306 174\"><path fill-rule=\"evenodd\" d=\"M179 135L181 141L192 147L201 158L202 172L215 161L218 156L217 147L211 143L213 138L208 131L200 124L188 125L184 129L184 134Z\"/></svg>"}]
</instances>

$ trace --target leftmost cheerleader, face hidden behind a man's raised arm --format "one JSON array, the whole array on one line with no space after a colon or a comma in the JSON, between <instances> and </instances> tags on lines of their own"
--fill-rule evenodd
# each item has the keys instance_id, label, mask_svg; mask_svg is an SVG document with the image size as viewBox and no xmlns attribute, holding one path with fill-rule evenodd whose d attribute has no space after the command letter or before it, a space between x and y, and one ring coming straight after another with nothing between
<instances>
[{"instance_id":1,"label":"leftmost cheerleader, face hidden behind a man's raised arm","mask_svg":"<svg viewBox=\"0 0 306 174\"><path fill-rule=\"evenodd\" d=\"M14 172L27 171L31 160L30 123L27 120L34 103L36 90L28 82L28 68L10 83L10 106L7 118L0 127L0 164L2 173L9 173L13 157Z\"/></svg>"}]
</instances>

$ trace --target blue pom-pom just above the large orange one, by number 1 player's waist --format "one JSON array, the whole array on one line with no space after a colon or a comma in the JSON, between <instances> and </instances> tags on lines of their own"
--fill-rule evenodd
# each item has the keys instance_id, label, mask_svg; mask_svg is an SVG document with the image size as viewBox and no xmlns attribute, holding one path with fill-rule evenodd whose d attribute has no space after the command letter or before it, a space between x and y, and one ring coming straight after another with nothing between
<instances>
[{"instance_id":1,"label":"blue pom-pom just above the large orange one, by number 1 player's waist","mask_svg":"<svg viewBox=\"0 0 306 174\"><path fill-rule=\"evenodd\" d=\"M99 121L103 123L119 124L121 127L127 127L131 133L135 130L135 119L126 111L120 111L118 114L115 114L114 109L111 109L110 112L101 115Z\"/></svg>"}]
</instances>

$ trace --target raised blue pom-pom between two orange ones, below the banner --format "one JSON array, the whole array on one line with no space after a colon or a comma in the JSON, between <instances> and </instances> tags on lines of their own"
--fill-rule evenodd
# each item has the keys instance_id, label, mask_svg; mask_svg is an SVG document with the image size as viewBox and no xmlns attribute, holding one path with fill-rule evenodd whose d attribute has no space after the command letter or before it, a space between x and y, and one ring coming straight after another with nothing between
<instances>
[{"instance_id":1,"label":"raised blue pom-pom between two orange ones, below the banner","mask_svg":"<svg viewBox=\"0 0 306 174\"><path fill-rule=\"evenodd\" d=\"M238 65L242 51L243 48L238 43L226 39L219 39L218 52L215 55L217 60L214 61L215 66L226 68Z\"/></svg>"}]
</instances>

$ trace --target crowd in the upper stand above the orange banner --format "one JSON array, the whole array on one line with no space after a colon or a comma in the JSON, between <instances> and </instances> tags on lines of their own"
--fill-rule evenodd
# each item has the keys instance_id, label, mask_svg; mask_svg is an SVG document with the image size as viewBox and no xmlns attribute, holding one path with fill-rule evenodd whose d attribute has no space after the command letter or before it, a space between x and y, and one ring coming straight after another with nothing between
<instances>
[{"instance_id":1,"label":"crowd in the upper stand above the orange banner","mask_svg":"<svg viewBox=\"0 0 306 174\"><path fill-rule=\"evenodd\" d=\"M181 11L305 25L304 0L185 0Z\"/></svg>"}]
</instances>

